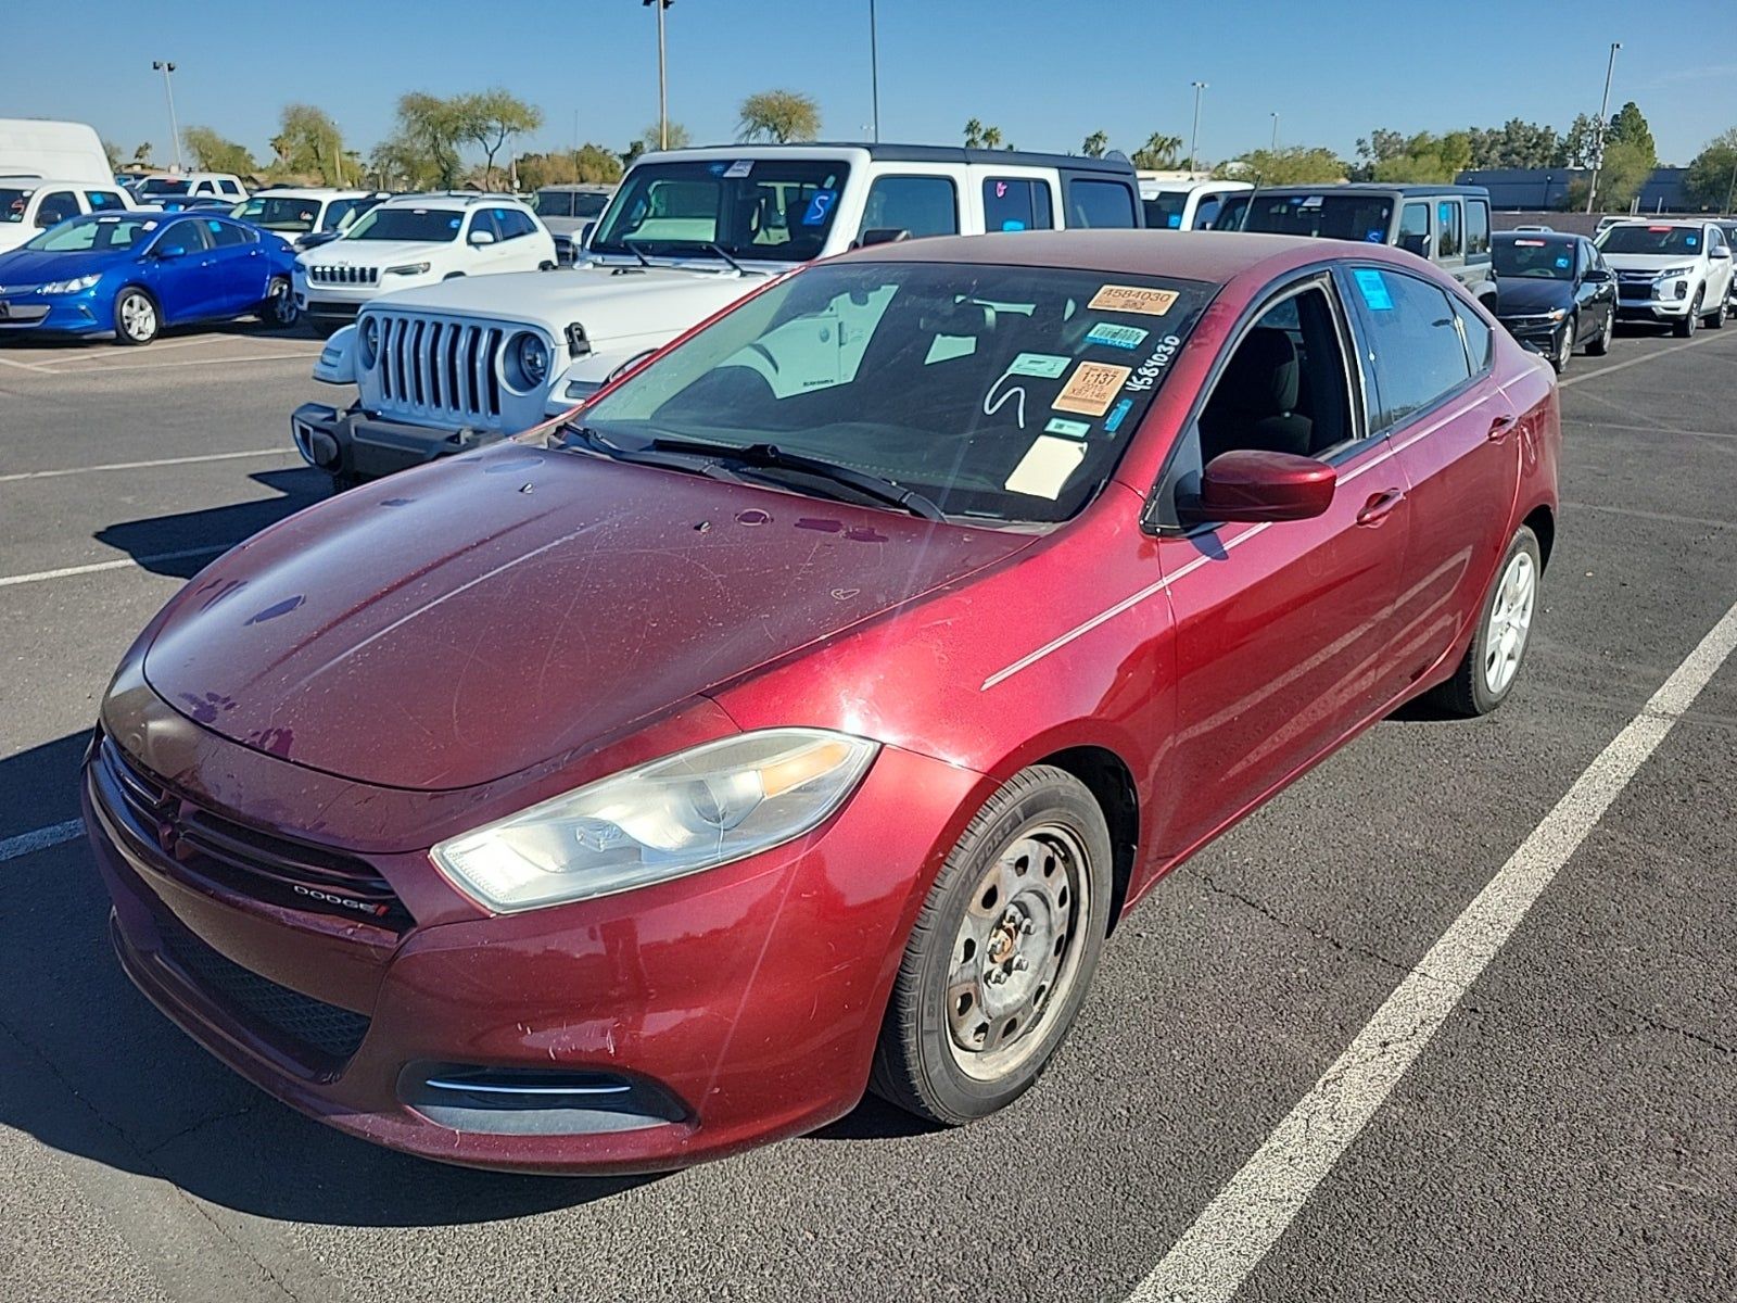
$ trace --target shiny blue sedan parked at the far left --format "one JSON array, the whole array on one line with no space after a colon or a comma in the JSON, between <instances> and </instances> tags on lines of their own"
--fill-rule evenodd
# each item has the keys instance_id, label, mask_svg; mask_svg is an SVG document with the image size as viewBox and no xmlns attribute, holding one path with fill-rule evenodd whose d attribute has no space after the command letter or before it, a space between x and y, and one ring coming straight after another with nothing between
<instances>
[{"instance_id":1,"label":"shiny blue sedan parked at the far left","mask_svg":"<svg viewBox=\"0 0 1737 1303\"><path fill-rule=\"evenodd\" d=\"M208 214L73 217L0 254L0 332L113 334L149 344L163 327L257 314L295 323L295 254Z\"/></svg>"}]
</instances>

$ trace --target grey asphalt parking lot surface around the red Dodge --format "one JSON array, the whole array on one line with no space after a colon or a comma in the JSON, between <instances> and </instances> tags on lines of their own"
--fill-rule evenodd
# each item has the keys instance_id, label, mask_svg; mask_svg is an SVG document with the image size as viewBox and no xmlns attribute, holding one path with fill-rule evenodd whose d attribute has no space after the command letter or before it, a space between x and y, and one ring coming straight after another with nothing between
<instances>
[{"instance_id":1,"label":"grey asphalt parking lot surface around the red Dodge","mask_svg":"<svg viewBox=\"0 0 1737 1303\"><path fill-rule=\"evenodd\" d=\"M175 587L318 495L287 438L318 344L0 344L0 1296L1737 1296L1737 660L1654 700L1737 601L1737 330L1574 360L1515 700L1381 723L1171 874L1018 1105L938 1133L867 1101L610 1181L344 1138L122 976L69 827L85 731ZM1636 719L1655 745L1612 761ZM1436 964L1544 860L1487 962ZM1419 983L1442 1016L1357 1075Z\"/></svg>"}]
</instances>

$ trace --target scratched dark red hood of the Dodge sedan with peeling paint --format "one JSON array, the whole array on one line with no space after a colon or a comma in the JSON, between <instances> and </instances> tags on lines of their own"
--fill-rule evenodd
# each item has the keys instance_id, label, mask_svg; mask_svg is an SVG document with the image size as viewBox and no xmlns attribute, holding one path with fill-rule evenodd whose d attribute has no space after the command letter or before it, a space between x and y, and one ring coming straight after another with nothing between
<instances>
[{"instance_id":1,"label":"scratched dark red hood of the Dodge sedan with peeling paint","mask_svg":"<svg viewBox=\"0 0 1737 1303\"><path fill-rule=\"evenodd\" d=\"M500 445L219 558L172 603L144 676L255 751L384 787L474 787L1030 542Z\"/></svg>"}]
</instances>

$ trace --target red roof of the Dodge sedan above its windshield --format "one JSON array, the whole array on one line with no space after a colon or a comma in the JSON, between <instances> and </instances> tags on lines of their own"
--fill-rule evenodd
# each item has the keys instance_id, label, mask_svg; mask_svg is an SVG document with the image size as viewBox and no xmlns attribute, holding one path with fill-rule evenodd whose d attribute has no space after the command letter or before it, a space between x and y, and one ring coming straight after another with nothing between
<instances>
[{"instance_id":1,"label":"red roof of the Dodge sedan above its windshield","mask_svg":"<svg viewBox=\"0 0 1737 1303\"><path fill-rule=\"evenodd\" d=\"M994 235L898 240L841 254L829 262L964 262L1009 268L1075 268L1080 271L1171 276L1223 285L1242 273L1268 268L1275 274L1308 262L1357 259L1393 262L1405 269L1417 259L1386 245L1348 240L1308 240L1294 235L1244 231L1009 231Z\"/></svg>"}]
</instances>

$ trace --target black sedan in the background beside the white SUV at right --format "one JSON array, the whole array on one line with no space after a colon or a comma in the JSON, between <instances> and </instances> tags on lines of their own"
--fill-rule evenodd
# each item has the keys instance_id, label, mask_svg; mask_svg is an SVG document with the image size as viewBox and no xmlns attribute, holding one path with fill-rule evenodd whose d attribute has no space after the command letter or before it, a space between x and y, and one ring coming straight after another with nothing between
<instances>
[{"instance_id":1,"label":"black sedan in the background beside the white SUV at right","mask_svg":"<svg viewBox=\"0 0 1737 1303\"><path fill-rule=\"evenodd\" d=\"M1581 344L1610 347L1617 280L1591 240L1567 231L1497 231L1497 309L1508 334L1549 358L1560 374Z\"/></svg>"}]
</instances>

